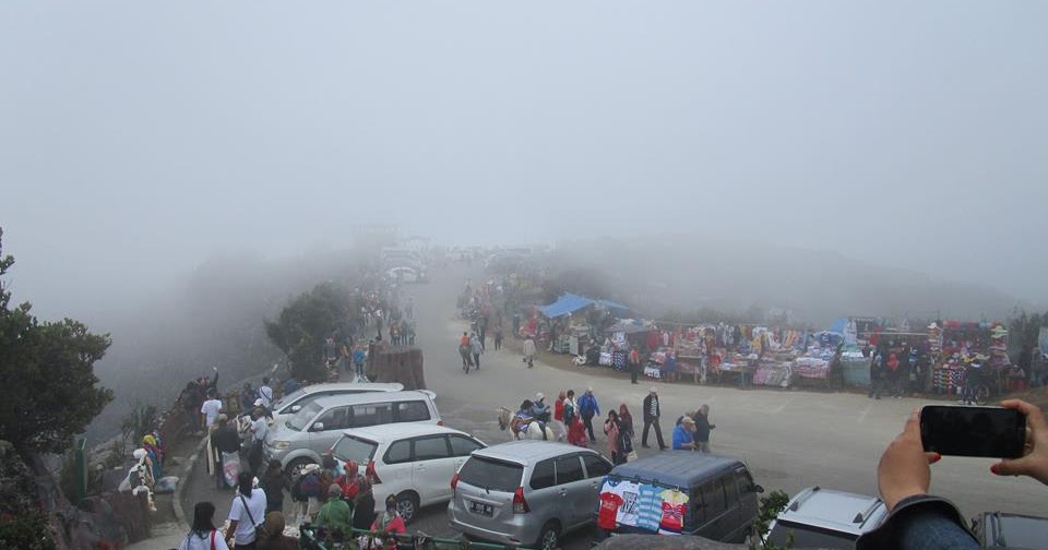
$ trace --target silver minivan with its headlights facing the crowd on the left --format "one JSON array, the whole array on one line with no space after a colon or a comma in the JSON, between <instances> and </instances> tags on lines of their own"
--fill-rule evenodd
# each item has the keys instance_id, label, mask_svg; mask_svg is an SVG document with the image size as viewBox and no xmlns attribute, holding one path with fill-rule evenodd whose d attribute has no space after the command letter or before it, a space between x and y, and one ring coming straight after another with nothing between
<instances>
[{"instance_id":1,"label":"silver minivan with its headlights facing the crowd on the left","mask_svg":"<svg viewBox=\"0 0 1048 550\"><path fill-rule=\"evenodd\" d=\"M307 464L320 464L347 429L400 422L443 423L433 400L418 391L318 397L270 430L266 457L281 461L290 476Z\"/></svg>"}]
</instances>

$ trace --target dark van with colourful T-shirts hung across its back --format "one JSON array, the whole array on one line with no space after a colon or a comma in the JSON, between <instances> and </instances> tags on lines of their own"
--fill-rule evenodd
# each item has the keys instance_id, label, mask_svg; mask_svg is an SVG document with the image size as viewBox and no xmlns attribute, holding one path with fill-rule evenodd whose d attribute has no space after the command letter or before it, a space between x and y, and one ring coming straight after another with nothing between
<instances>
[{"instance_id":1,"label":"dark van with colourful T-shirts hung across its back","mask_svg":"<svg viewBox=\"0 0 1048 550\"><path fill-rule=\"evenodd\" d=\"M597 539L657 533L743 542L760 492L746 464L727 456L667 451L620 464L600 487Z\"/></svg>"}]
</instances>

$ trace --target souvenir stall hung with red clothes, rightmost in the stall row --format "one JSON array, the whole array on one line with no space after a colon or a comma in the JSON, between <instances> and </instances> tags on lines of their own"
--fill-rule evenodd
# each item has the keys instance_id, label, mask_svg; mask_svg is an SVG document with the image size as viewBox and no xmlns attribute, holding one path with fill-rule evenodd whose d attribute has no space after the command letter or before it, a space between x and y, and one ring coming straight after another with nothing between
<instances>
[{"instance_id":1,"label":"souvenir stall hung with red clothes, rightmost in the stall row","mask_svg":"<svg viewBox=\"0 0 1048 550\"><path fill-rule=\"evenodd\" d=\"M948 320L943 322L939 340L940 360L931 374L936 393L961 395L965 372L973 363L981 364L984 382L990 384L991 392L1000 390L993 387L993 382L999 383L1004 369L1011 364L1007 352L1008 330L1001 323Z\"/></svg>"}]
</instances>

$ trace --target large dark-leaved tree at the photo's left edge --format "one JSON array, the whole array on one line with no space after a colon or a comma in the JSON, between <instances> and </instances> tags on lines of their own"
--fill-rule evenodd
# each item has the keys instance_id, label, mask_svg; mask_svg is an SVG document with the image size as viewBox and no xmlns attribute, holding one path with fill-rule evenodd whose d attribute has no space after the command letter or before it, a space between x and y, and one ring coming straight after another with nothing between
<instances>
[{"instance_id":1,"label":"large dark-leaved tree at the photo's left edge","mask_svg":"<svg viewBox=\"0 0 1048 550\"><path fill-rule=\"evenodd\" d=\"M2 237L0 230L0 276L14 265L2 255ZM61 453L112 400L94 372L110 339L68 318L41 323L31 308L12 308L0 280L0 439L23 454Z\"/></svg>"}]
</instances>

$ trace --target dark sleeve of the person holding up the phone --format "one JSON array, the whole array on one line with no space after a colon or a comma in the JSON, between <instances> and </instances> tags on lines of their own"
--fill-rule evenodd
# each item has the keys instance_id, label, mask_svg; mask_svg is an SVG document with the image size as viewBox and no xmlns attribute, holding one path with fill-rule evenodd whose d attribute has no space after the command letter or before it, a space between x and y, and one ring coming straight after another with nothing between
<instances>
[{"instance_id":1,"label":"dark sleeve of the person holding up the phone","mask_svg":"<svg viewBox=\"0 0 1048 550\"><path fill-rule=\"evenodd\" d=\"M974 550L980 547L965 527L956 506L948 500L921 494L903 499L880 527L859 537L855 548Z\"/></svg>"}]
</instances>

